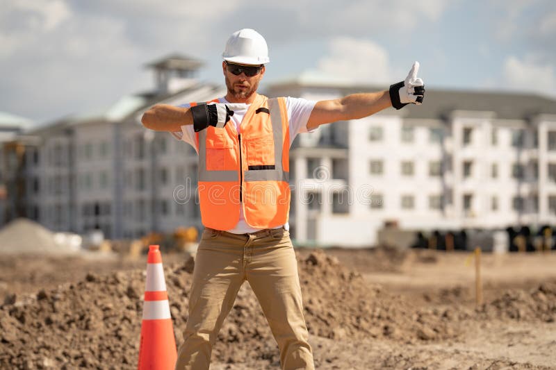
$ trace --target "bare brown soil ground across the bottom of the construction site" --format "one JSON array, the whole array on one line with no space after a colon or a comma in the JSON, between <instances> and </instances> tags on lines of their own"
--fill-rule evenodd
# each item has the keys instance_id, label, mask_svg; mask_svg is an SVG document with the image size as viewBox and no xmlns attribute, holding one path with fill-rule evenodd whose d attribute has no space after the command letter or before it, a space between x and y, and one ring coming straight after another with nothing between
<instances>
[{"instance_id":1,"label":"bare brown soil ground across the bottom of the construction site","mask_svg":"<svg viewBox=\"0 0 556 370\"><path fill-rule=\"evenodd\" d=\"M299 249L317 369L556 369L556 254ZM163 253L177 343L194 258ZM0 369L136 369L146 256L4 255ZM211 369L276 369L279 352L243 285Z\"/></svg>"}]
</instances>

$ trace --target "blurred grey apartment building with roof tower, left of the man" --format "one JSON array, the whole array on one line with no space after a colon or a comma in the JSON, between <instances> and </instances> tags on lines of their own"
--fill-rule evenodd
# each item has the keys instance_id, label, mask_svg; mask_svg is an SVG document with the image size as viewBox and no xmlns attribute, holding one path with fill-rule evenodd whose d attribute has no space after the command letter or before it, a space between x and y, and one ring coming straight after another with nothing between
<instances>
[{"instance_id":1,"label":"blurred grey apartment building with roof tower, left of the man","mask_svg":"<svg viewBox=\"0 0 556 370\"><path fill-rule=\"evenodd\" d=\"M8 183L23 183L24 195L14 200L17 212L9 219L29 217L51 230L75 233L102 230L111 238L200 227L197 154L168 133L145 130L140 117L155 103L225 94L224 87L197 80L201 66L177 55L157 60L147 65L154 71L154 90L18 135L8 144L17 144L23 155L6 167L12 174Z\"/></svg>"}]
</instances>

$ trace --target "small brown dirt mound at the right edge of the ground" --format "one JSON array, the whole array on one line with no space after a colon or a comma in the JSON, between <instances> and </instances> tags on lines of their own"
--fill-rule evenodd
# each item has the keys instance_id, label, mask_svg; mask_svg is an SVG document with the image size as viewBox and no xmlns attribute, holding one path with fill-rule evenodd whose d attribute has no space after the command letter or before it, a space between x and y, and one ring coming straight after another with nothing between
<instances>
[{"instance_id":1,"label":"small brown dirt mound at the right edge of the ground","mask_svg":"<svg viewBox=\"0 0 556 370\"><path fill-rule=\"evenodd\" d=\"M543 283L530 291L509 290L482 308L494 319L556 321L556 282Z\"/></svg>"}]
</instances>

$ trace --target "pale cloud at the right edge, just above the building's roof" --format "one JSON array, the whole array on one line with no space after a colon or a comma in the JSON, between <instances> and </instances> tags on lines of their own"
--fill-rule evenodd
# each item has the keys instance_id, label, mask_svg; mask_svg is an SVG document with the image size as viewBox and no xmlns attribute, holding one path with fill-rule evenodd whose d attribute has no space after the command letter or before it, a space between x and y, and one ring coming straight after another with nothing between
<instances>
[{"instance_id":1,"label":"pale cloud at the right edge, just above the building's roof","mask_svg":"<svg viewBox=\"0 0 556 370\"><path fill-rule=\"evenodd\" d=\"M555 67L548 64L539 65L531 58L526 57L525 60L519 60L515 56L506 58L503 78L505 86L512 90L529 90L553 96L555 94Z\"/></svg>"}]
</instances>

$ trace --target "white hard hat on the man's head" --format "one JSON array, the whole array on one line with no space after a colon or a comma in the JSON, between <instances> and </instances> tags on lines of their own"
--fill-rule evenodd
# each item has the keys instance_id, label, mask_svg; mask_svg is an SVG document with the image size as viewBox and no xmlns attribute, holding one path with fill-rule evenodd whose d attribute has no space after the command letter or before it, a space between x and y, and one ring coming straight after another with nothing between
<instances>
[{"instance_id":1,"label":"white hard hat on the man's head","mask_svg":"<svg viewBox=\"0 0 556 370\"><path fill-rule=\"evenodd\" d=\"M270 62L264 37L251 28L243 28L231 34L222 58L242 65L263 65Z\"/></svg>"}]
</instances>

